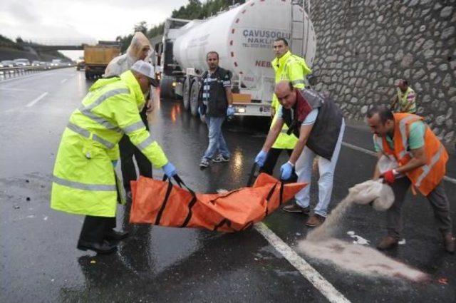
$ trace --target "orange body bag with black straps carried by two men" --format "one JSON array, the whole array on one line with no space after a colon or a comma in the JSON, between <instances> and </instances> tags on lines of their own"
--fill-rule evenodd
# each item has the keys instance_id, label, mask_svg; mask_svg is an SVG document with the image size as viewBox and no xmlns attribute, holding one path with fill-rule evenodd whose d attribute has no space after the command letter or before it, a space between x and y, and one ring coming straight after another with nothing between
<instances>
[{"instance_id":1,"label":"orange body bag with black straps carried by two men","mask_svg":"<svg viewBox=\"0 0 456 303\"><path fill-rule=\"evenodd\" d=\"M288 183L261 173L252 187L217 194L197 193L175 176L170 180L140 177L131 183L130 223L238 232L270 215L306 183Z\"/></svg>"}]
</instances>

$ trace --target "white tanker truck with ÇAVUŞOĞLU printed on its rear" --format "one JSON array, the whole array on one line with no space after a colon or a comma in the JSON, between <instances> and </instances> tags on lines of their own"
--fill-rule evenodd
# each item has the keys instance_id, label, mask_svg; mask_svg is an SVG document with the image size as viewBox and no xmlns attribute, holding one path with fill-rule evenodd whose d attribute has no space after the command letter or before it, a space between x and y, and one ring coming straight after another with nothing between
<instances>
[{"instance_id":1,"label":"white tanker truck with \u00c7AVU\u015eO\u011eLU printed on its rear","mask_svg":"<svg viewBox=\"0 0 456 303\"><path fill-rule=\"evenodd\" d=\"M181 97L197 115L199 79L206 54L219 53L219 66L232 73L235 115L271 115L274 93L272 44L286 38L293 53L312 66L316 35L309 1L252 0L204 20L167 19L159 54L162 98Z\"/></svg>"}]
</instances>

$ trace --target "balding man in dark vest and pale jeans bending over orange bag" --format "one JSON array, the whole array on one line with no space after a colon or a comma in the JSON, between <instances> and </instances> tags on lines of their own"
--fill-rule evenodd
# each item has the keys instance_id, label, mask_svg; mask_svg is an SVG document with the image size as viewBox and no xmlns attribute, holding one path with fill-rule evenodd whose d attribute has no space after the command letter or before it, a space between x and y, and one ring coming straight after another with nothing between
<instances>
[{"instance_id":1,"label":"balding man in dark vest and pale jeans bending over orange bag","mask_svg":"<svg viewBox=\"0 0 456 303\"><path fill-rule=\"evenodd\" d=\"M334 170L341 150L345 123L341 110L328 98L311 89L299 90L289 81L281 81L274 91L281 106L278 119L269 130L263 148L255 158L262 166L266 154L274 144L284 123L289 127L289 133L294 133L298 143L291 153L287 163L281 166L281 178L288 180L296 165L298 182L310 183L312 163L318 157L318 203L314 215L307 220L306 225L316 227L321 225L328 214L331 192L333 190ZM309 212L310 186L306 186L296 194L296 203L286 205L289 212Z\"/></svg>"}]
</instances>

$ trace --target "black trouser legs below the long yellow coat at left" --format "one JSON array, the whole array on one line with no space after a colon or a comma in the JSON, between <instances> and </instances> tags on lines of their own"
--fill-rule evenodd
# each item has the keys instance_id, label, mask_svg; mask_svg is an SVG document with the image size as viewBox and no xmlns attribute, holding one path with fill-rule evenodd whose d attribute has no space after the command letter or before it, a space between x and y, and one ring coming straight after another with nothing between
<instances>
[{"instance_id":1,"label":"black trouser legs below the long yellow coat at left","mask_svg":"<svg viewBox=\"0 0 456 303\"><path fill-rule=\"evenodd\" d=\"M86 215L79 240L103 242L106 232L115 228L115 217L95 217Z\"/></svg>"}]
</instances>

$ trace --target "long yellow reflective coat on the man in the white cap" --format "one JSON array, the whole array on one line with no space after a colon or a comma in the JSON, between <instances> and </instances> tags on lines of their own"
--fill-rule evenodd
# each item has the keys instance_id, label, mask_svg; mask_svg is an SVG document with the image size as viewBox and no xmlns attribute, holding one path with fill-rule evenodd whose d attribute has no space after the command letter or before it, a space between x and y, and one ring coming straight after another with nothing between
<instances>
[{"instance_id":1,"label":"long yellow reflective coat on the man in the white cap","mask_svg":"<svg viewBox=\"0 0 456 303\"><path fill-rule=\"evenodd\" d=\"M51 208L73 214L114 217L117 190L112 160L126 133L156 167L168 161L145 129L138 108L144 95L133 73L100 79L71 114L53 170Z\"/></svg>"}]
</instances>

